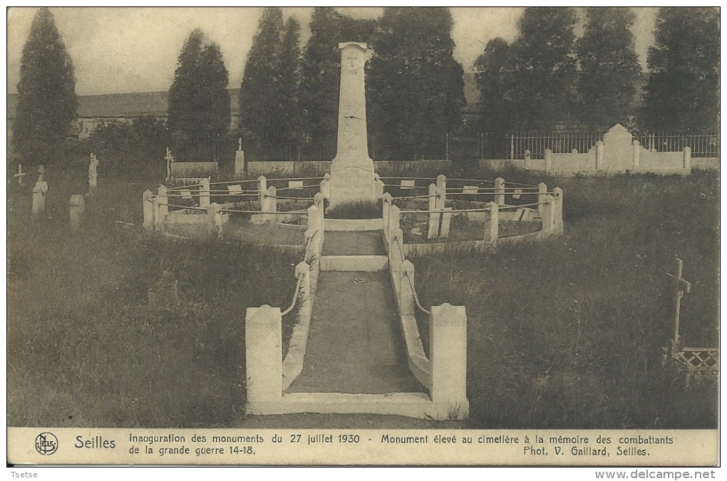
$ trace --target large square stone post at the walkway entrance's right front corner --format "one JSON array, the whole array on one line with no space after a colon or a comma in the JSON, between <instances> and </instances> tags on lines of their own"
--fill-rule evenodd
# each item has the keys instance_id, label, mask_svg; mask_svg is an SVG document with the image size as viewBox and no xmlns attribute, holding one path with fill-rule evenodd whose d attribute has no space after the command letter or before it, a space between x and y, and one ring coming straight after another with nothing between
<instances>
[{"instance_id":1,"label":"large square stone post at the walkway entrance's right front corner","mask_svg":"<svg viewBox=\"0 0 727 481\"><path fill-rule=\"evenodd\" d=\"M464 419L467 402L467 312L464 306L432 306L430 317L431 380L435 403L446 405L448 415Z\"/></svg>"}]
</instances>

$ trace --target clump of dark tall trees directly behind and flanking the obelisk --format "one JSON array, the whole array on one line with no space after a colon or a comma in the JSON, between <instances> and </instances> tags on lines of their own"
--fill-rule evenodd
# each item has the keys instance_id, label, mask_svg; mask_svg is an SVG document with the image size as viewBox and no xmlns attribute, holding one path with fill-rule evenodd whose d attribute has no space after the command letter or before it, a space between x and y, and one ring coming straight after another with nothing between
<instances>
[{"instance_id":1,"label":"clump of dark tall trees directly behind and flanking the obelisk","mask_svg":"<svg viewBox=\"0 0 727 481\"><path fill-rule=\"evenodd\" d=\"M300 52L300 26L268 8L245 66L240 124L247 143L271 156L302 148L335 153L342 41L369 44L369 132L391 157L416 157L432 139L462 124L462 65L454 61L446 8L386 8L382 18L354 20L318 7ZM300 151L299 151L300 152Z\"/></svg>"}]
</instances>

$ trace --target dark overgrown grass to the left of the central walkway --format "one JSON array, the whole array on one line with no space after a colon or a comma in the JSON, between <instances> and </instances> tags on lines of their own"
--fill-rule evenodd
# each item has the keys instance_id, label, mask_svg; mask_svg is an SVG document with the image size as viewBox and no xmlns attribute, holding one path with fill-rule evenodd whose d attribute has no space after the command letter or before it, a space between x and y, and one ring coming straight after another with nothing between
<instances>
[{"instance_id":1,"label":"dark overgrown grass to the left of the central walkway","mask_svg":"<svg viewBox=\"0 0 727 481\"><path fill-rule=\"evenodd\" d=\"M150 236L140 206L153 179L103 174L71 234L68 198L84 179L46 178L40 219L29 186L9 191L9 425L232 425L244 412L246 308L287 307L298 256Z\"/></svg>"}]
</instances>

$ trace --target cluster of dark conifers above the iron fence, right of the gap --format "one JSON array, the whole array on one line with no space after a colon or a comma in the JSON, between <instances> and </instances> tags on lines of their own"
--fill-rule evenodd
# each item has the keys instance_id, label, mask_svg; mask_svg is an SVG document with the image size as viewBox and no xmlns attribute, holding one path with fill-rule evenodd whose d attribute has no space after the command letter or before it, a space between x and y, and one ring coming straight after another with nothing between
<instances>
[{"instance_id":1,"label":"cluster of dark conifers above the iron fence, right of the gap","mask_svg":"<svg viewBox=\"0 0 727 481\"><path fill-rule=\"evenodd\" d=\"M603 133L630 113L649 129L714 129L719 113L719 11L711 7L659 10L643 73L628 7L585 9L576 40L571 7L531 7L512 44L492 39L475 62L484 132L549 130L557 124Z\"/></svg>"}]
</instances>

